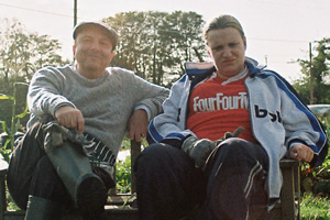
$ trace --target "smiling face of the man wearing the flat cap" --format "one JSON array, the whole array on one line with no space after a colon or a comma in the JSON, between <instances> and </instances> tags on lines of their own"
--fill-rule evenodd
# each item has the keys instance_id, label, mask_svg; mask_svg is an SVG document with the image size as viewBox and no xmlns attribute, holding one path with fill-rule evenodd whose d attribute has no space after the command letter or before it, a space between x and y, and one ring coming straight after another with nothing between
<instances>
[{"instance_id":1,"label":"smiling face of the man wearing the flat cap","mask_svg":"<svg viewBox=\"0 0 330 220\"><path fill-rule=\"evenodd\" d=\"M82 28L75 41L74 55L78 72L87 78L98 78L114 56L112 43L105 31L96 25Z\"/></svg>"}]
</instances>

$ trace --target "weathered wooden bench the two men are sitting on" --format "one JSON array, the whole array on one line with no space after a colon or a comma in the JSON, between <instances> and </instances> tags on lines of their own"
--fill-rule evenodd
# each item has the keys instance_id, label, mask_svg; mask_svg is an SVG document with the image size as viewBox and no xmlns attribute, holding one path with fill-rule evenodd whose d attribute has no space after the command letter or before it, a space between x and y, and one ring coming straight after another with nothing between
<instances>
[{"instance_id":1,"label":"weathered wooden bench the two men are sitting on","mask_svg":"<svg viewBox=\"0 0 330 220\"><path fill-rule=\"evenodd\" d=\"M138 155L141 153L141 144L131 142L131 167L133 167ZM300 163L294 160L283 160L280 168L284 178L280 202L277 202L274 209L265 213L262 220L296 220L300 219ZM23 220L25 211L10 211L6 199L6 173L7 167L0 167L0 220ZM136 184L133 174L131 174L131 190L136 193ZM131 195L109 195L106 206L107 219L109 220L138 220L138 208L131 207ZM128 202L127 202L128 201ZM128 206L123 206L127 202ZM79 220L78 215L67 215L64 220Z\"/></svg>"}]
</instances>

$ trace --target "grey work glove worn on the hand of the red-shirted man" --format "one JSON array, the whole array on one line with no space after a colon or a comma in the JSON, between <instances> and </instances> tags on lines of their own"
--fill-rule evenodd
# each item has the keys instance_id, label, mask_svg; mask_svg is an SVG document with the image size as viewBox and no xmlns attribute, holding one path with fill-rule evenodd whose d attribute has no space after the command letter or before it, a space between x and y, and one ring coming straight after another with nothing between
<instances>
[{"instance_id":1,"label":"grey work glove worn on the hand of the red-shirted man","mask_svg":"<svg viewBox=\"0 0 330 220\"><path fill-rule=\"evenodd\" d=\"M201 168L210 153L216 148L216 143L208 139L189 136L182 145L182 150L195 162L196 168Z\"/></svg>"}]
</instances>

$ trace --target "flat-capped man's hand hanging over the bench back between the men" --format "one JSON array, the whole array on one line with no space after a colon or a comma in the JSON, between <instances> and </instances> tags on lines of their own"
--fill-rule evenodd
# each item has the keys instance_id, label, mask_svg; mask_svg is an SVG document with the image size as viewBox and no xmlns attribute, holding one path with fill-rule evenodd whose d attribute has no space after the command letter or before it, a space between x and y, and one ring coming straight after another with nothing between
<instances>
[{"instance_id":1,"label":"flat-capped man's hand hanging over the bench back between the men","mask_svg":"<svg viewBox=\"0 0 330 220\"><path fill-rule=\"evenodd\" d=\"M146 111L139 109L134 111L129 121L130 139L141 142L141 138L146 135L148 125Z\"/></svg>"}]
</instances>

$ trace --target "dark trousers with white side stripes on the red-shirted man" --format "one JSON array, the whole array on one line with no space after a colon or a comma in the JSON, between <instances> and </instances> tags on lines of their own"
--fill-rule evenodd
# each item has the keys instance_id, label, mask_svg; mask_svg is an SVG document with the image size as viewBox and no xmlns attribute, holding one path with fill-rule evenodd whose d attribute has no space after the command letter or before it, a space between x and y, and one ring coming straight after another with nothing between
<instances>
[{"instance_id":1,"label":"dark trousers with white side stripes on the red-shirted man","mask_svg":"<svg viewBox=\"0 0 330 220\"><path fill-rule=\"evenodd\" d=\"M215 150L205 172L166 144L146 147L135 163L141 220L176 220L200 206L202 220L257 219L266 210L266 152L241 139Z\"/></svg>"}]
</instances>

